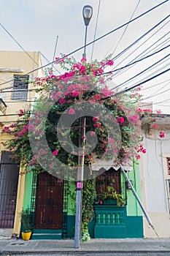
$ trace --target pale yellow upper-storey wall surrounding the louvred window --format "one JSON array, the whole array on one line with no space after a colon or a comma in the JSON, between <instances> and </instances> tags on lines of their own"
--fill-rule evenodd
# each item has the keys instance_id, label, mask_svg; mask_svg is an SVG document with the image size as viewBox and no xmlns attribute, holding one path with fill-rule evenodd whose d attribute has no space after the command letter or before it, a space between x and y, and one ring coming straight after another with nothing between
<instances>
[{"instance_id":1,"label":"pale yellow upper-storey wall surrounding the louvred window","mask_svg":"<svg viewBox=\"0 0 170 256\"><path fill-rule=\"evenodd\" d=\"M37 97L35 91L28 91L27 102L16 102L11 100L12 97L12 86L13 86L13 75L26 75L38 67L42 67L42 61L39 52L27 52L22 51L0 51L0 86L1 93L0 98L2 98L7 105L6 115L0 116L0 122L15 121L17 116L7 116L9 114L18 113L19 109L31 108L32 100ZM12 72L7 72L7 69ZM14 72L15 69L20 69L23 72ZM42 69L36 70L29 74L29 80L34 81L36 77L42 77ZM3 91L4 89L4 91ZM32 83L29 83L28 90L35 89ZM9 91L9 92L7 92ZM0 111L0 115L1 115ZM7 123L6 123L7 124ZM4 126L5 123L4 123Z\"/></svg>"}]
</instances>

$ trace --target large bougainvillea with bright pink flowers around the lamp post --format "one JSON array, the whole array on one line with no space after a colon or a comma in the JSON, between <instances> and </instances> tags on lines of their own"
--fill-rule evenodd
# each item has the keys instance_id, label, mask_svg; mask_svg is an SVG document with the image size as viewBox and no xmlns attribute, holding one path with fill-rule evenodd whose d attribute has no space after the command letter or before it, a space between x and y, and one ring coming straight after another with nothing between
<instances>
[{"instance_id":1,"label":"large bougainvillea with bright pink flowers around the lamp post","mask_svg":"<svg viewBox=\"0 0 170 256\"><path fill-rule=\"evenodd\" d=\"M4 127L4 132L14 135L6 146L14 151L15 161L21 160L26 173L46 170L58 178L77 181L81 146L84 180L100 174L100 170L94 173L91 169L98 159L112 160L110 167L139 159L140 153L146 152L141 140L141 116L150 113L136 108L139 88L123 94L109 89L107 81L112 74L104 74L104 67L113 65L109 59L88 63L85 58L77 62L66 57L57 58L56 64L66 72L54 75L49 70L45 78L36 78L40 96L34 109L20 110L18 121Z\"/></svg>"}]
</instances>

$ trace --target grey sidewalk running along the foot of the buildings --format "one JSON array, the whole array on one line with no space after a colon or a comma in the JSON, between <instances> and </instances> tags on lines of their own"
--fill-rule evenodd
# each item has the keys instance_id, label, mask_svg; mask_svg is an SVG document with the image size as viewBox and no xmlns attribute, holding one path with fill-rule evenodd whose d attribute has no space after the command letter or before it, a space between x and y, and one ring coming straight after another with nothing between
<instances>
[{"instance_id":1,"label":"grey sidewalk running along the foot of the buildings","mask_svg":"<svg viewBox=\"0 0 170 256\"><path fill-rule=\"evenodd\" d=\"M30 240L2 239L0 240L0 255L77 255L88 252L88 255L97 252L169 252L170 238L125 238L125 239L91 239L80 243L80 249L74 249L74 240Z\"/></svg>"}]
</instances>

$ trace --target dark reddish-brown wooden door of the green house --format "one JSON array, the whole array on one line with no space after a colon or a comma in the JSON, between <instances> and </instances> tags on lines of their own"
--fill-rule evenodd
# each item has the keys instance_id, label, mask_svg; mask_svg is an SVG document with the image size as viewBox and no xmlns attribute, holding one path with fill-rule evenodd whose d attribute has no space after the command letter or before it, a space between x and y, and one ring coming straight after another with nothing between
<instances>
[{"instance_id":1,"label":"dark reddish-brown wooden door of the green house","mask_svg":"<svg viewBox=\"0 0 170 256\"><path fill-rule=\"evenodd\" d=\"M63 220L63 180L47 172L37 176L35 229L61 230Z\"/></svg>"}]
</instances>

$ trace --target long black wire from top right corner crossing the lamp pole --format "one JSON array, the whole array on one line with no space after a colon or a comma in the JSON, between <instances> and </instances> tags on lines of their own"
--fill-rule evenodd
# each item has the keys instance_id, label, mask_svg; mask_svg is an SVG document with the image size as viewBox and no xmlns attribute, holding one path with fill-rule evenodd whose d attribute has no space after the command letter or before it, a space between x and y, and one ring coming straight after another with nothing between
<instances>
[{"instance_id":1,"label":"long black wire from top right corner crossing the lamp pole","mask_svg":"<svg viewBox=\"0 0 170 256\"><path fill-rule=\"evenodd\" d=\"M167 1L169 1L169 0L162 1L160 4L155 5L154 7L152 7L152 8L149 9L149 10L147 10L146 12L143 12L141 15L137 16L136 18L130 20L129 22L124 23L123 25L117 27L116 29L113 29L112 31L109 31L108 33L104 34L103 36L98 37L97 39L95 39L95 40L93 40L93 41L91 41L91 42L88 42L88 44L83 45L82 47L77 48L76 50L73 50L71 53L66 54L64 57L68 57L68 56L70 56L70 55L76 53L77 51L82 50L83 48L85 48L85 46L91 45L93 42L97 42L98 40L100 40L100 39L102 39L102 38L104 38L104 37L107 37L109 34L112 34L113 32L117 31L118 29L122 29L123 26L126 26L128 23L132 23L134 20L137 20L137 19L141 18L142 16L146 15L147 13L151 12L152 10L155 10L156 8L160 7L162 4L165 4ZM61 57L60 59L58 59L58 61L60 61L60 60L63 59L64 57ZM32 70L31 72L35 72L35 71L37 71L37 70L39 70L39 69L45 68L45 67L47 67L47 66L53 64L53 62L55 62L55 61L52 61L52 62L50 62L50 64L46 64L46 65L44 65L44 66L42 66L42 67L39 67L39 68L37 68L37 69L34 69L34 70ZM28 72L26 75L29 75L31 72ZM9 81L7 81L7 82L5 82L5 83L9 83L9 82L12 82L12 81L13 81L13 79L12 79L12 80L9 80ZM1 83L0 85L2 86L2 85L4 85L5 83Z\"/></svg>"}]
</instances>

